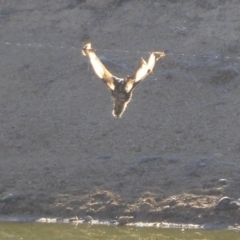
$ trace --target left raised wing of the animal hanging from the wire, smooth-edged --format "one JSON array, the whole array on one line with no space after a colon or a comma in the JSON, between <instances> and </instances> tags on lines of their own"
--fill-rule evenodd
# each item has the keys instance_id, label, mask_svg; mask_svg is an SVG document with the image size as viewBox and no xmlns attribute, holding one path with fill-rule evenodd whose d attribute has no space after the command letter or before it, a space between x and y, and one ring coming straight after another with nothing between
<instances>
[{"instance_id":1,"label":"left raised wing of the animal hanging from the wire, smooth-edged","mask_svg":"<svg viewBox=\"0 0 240 240\"><path fill-rule=\"evenodd\" d=\"M84 56L88 56L90 63L93 67L94 72L96 75L103 80L105 84L111 89L114 90L114 80L113 75L107 70L107 68L103 65L100 59L95 54L94 50L92 49L91 43L87 43L83 49L82 53Z\"/></svg>"}]
</instances>

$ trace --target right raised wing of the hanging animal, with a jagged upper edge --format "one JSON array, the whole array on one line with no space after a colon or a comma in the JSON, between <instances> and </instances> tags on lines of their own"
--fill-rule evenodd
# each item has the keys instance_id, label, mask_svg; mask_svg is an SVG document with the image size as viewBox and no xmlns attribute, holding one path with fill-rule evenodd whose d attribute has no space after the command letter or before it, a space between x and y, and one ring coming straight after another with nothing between
<instances>
[{"instance_id":1,"label":"right raised wing of the hanging animal, with a jagged upper edge","mask_svg":"<svg viewBox=\"0 0 240 240\"><path fill-rule=\"evenodd\" d=\"M147 63L143 58L141 58L136 72L131 77L128 77L125 90L130 92L137 85L137 83L152 73L156 62L165 56L166 55L164 52L152 52Z\"/></svg>"}]
</instances>

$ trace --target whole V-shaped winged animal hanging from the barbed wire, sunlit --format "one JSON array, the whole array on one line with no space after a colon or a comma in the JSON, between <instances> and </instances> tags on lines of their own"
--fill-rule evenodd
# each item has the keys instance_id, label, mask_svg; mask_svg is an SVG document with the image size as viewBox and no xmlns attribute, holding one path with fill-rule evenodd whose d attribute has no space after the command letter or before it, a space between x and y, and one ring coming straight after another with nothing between
<instances>
[{"instance_id":1,"label":"whole V-shaped winged animal hanging from the barbed wire, sunlit","mask_svg":"<svg viewBox=\"0 0 240 240\"><path fill-rule=\"evenodd\" d=\"M114 117L120 118L125 111L127 104L132 98L133 89L140 83L145 77L152 73L155 63L165 57L164 52L152 52L146 62L143 58L139 63L136 72L132 76L126 78L118 78L108 71L103 65L101 60L97 57L95 51L92 49L91 43L87 43L82 48L82 53L90 60L92 68L95 74L102 79L102 81L108 86L113 98L113 111Z\"/></svg>"}]
</instances>

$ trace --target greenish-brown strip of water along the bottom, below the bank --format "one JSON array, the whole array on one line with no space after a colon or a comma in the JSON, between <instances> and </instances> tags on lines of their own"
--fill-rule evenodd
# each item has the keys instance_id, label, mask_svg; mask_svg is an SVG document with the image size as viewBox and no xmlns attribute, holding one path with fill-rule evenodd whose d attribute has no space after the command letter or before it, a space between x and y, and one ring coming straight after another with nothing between
<instances>
[{"instance_id":1,"label":"greenish-brown strip of water along the bottom, below the bank","mask_svg":"<svg viewBox=\"0 0 240 240\"><path fill-rule=\"evenodd\" d=\"M0 240L240 240L240 232L228 230L181 230L44 223L0 223Z\"/></svg>"}]
</instances>

